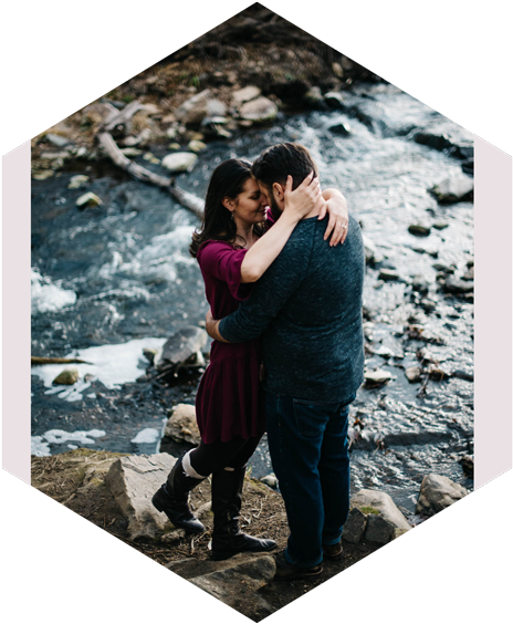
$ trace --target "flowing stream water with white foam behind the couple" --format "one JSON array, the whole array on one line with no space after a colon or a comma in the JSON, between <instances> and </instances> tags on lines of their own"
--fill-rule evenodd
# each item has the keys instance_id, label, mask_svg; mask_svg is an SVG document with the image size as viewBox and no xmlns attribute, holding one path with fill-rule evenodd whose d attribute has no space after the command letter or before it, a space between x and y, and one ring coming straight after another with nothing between
<instances>
[{"instance_id":1,"label":"flowing stream water with white foam behind the couple","mask_svg":"<svg viewBox=\"0 0 513 624\"><path fill-rule=\"evenodd\" d=\"M329 129L344 124L348 134ZM460 464L473 454L473 303L443 292L440 267L456 277L473 259L473 205L442 206L429 189L461 177L462 160L449 149L417 143L418 132L472 145L465 128L391 84L363 85L346 95L344 111L283 116L273 127L252 128L211 142L195 169L177 177L205 197L216 166L230 157L252 160L274 143L293 141L311 150L324 188L339 188L362 223L378 262L366 270L364 304L369 371L391 373L376 387L362 386L352 407L352 483L376 488L413 512L422 477L442 474L472 489ZM153 146L157 157L166 146ZM158 165L144 166L161 173ZM85 189L69 189L85 173ZM103 205L78 209L85 191ZM433 226L427 237L412 223ZM116 404L136 385L155 347L178 327L205 320L207 301L196 261L188 254L198 219L164 190L105 164L76 163L44 181L32 180L32 354L75 356L81 378L53 386L62 366L32 367L32 453L52 455L74 446L124 453L159 449L166 409ZM394 269L399 280L379 279ZM419 305L412 282L423 284L430 309ZM407 325L422 332L411 337ZM446 375L409 383L405 368L428 349ZM175 402L193 403L198 377L172 389ZM127 405L130 399L127 399ZM265 438L252 459L253 476L272 471Z\"/></svg>"}]
</instances>

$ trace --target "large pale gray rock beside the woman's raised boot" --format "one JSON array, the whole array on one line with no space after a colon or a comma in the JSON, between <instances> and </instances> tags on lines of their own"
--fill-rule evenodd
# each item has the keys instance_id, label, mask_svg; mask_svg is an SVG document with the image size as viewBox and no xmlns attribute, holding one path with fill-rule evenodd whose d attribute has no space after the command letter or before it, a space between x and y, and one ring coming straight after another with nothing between
<instances>
[{"instance_id":1,"label":"large pale gray rock beside the woman's raised boot","mask_svg":"<svg viewBox=\"0 0 513 624\"><path fill-rule=\"evenodd\" d=\"M151 497L166 481L176 457L168 453L133 455L117 459L105 476L105 485L128 521L129 539L155 539L172 530L165 513L151 505Z\"/></svg>"}]
</instances>

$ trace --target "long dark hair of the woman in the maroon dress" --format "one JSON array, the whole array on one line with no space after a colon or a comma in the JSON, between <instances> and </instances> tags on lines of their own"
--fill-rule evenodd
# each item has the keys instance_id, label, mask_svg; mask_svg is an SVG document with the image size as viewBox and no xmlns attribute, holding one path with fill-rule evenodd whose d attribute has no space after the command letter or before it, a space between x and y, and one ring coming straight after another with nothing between
<instances>
[{"instance_id":1,"label":"long dark hair of the woman in the maroon dress","mask_svg":"<svg viewBox=\"0 0 513 624\"><path fill-rule=\"evenodd\" d=\"M237 199L249 178L251 163L240 158L230 158L216 167L207 189L201 228L195 230L189 247L192 258L197 257L198 249L207 240L235 241L237 226L222 200L224 197Z\"/></svg>"}]
</instances>

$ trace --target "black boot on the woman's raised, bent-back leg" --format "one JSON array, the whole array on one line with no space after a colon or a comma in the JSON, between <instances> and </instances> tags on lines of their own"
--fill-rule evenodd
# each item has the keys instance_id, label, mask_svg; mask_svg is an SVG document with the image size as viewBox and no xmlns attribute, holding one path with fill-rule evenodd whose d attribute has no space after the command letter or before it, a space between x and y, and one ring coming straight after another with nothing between
<instances>
[{"instance_id":1,"label":"black boot on the woman's raised, bent-back leg","mask_svg":"<svg viewBox=\"0 0 513 624\"><path fill-rule=\"evenodd\" d=\"M163 483L151 499L158 511L164 511L177 529L195 533L205 531L205 526L189 509L189 492L205 479L195 479L184 470L184 456L177 459L167 481Z\"/></svg>"}]
</instances>

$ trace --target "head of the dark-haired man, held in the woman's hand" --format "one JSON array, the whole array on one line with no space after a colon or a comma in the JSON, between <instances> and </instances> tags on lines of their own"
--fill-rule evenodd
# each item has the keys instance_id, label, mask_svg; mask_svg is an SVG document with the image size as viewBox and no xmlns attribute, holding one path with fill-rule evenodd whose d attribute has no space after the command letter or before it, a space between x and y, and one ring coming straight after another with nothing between
<instances>
[{"instance_id":1,"label":"head of the dark-haired man, held in the woman's hand","mask_svg":"<svg viewBox=\"0 0 513 624\"><path fill-rule=\"evenodd\" d=\"M268 198L274 219L283 210L286 177L292 176L292 189L295 189L311 171L314 178L318 175L310 152L295 143L273 145L254 160L251 173Z\"/></svg>"}]
</instances>

